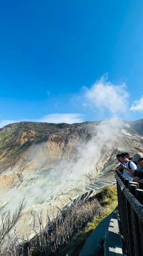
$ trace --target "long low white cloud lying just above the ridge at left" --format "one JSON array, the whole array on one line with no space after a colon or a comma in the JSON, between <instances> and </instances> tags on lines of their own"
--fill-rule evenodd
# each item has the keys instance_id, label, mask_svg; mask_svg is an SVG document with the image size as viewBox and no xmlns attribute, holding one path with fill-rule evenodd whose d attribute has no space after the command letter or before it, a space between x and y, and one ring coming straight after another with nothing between
<instances>
[{"instance_id":1,"label":"long low white cloud lying just above the ridge at left","mask_svg":"<svg viewBox=\"0 0 143 256\"><path fill-rule=\"evenodd\" d=\"M1 120L0 121L0 128L12 124L17 123L21 121L30 121L30 122L43 122L43 123L67 123L67 124L73 124L73 123L82 123L84 122L84 115L75 113L75 114L50 114L41 117L40 119L23 119L23 120Z\"/></svg>"}]
</instances>

